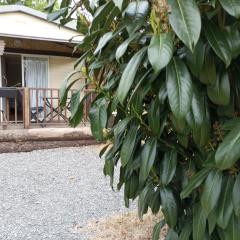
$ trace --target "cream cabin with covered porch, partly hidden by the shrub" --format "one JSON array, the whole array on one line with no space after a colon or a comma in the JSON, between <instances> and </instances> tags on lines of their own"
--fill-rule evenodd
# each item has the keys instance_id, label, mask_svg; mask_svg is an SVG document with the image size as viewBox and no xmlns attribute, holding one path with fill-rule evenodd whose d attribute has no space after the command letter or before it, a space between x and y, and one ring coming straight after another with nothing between
<instances>
[{"instance_id":1,"label":"cream cabin with covered porch, partly hidden by the shrub","mask_svg":"<svg viewBox=\"0 0 240 240\"><path fill-rule=\"evenodd\" d=\"M83 36L73 24L60 27L47 14L21 5L0 7L0 128L68 125L71 95L61 108L60 87L74 70ZM71 41L70 41L71 40Z\"/></svg>"}]
</instances>

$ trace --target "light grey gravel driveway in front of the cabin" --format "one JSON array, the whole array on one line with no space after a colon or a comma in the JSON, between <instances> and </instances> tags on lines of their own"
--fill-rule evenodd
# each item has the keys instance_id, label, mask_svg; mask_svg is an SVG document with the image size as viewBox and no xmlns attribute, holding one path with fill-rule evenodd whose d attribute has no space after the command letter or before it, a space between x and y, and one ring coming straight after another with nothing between
<instances>
[{"instance_id":1,"label":"light grey gravel driveway in front of the cabin","mask_svg":"<svg viewBox=\"0 0 240 240\"><path fill-rule=\"evenodd\" d=\"M89 220L124 211L99 147L0 154L0 239L84 240Z\"/></svg>"}]
</instances>

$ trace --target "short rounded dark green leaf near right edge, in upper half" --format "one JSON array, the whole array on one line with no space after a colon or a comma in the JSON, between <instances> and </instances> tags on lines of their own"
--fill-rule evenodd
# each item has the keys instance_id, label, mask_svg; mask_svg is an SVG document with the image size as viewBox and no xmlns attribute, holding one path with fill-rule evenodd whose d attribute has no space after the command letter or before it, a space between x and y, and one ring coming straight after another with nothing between
<instances>
[{"instance_id":1,"label":"short rounded dark green leaf near right edge, in upper half","mask_svg":"<svg viewBox=\"0 0 240 240\"><path fill-rule=\"evenodd\" d=\"M208 85L207 93L212 102L227 106L230 102L230 82L228 73L219 74L214 85Z\"/></svg>"}]
</instances>

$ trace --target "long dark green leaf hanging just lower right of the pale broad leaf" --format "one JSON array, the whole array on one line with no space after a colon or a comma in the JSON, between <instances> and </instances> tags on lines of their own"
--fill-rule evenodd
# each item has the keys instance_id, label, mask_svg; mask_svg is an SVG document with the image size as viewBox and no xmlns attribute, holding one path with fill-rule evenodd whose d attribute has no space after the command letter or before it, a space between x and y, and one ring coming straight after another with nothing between
<instances>
[{"instance_id":1,"label":"long dark green leaf hanging just lower right of the pale broad leaf","mask_svg":"<svg viewBox=\"0 0 240 240\"><path fill-rule=\"evenodd\" d=\"M185 64L174 58L167 67L167 92L171 110L177 119L186 117L192 103L192 80Z\"/></svg>"}]
</instances>

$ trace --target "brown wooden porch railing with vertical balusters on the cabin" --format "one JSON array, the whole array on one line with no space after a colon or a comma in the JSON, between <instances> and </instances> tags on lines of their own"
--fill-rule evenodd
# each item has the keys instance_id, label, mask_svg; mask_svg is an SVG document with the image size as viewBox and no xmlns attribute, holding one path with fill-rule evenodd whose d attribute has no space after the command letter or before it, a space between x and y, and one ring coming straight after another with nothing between
<instances>
[{"instance_id":1,"label":"brown wooden porch railing with vertical balusters on the cabin","mask_svg":"<svg viewBox=\"0 0 240 240\"><path fill-rule=\"evenodd\" d=\"M68 125L71 116L71 89L66 107L60 107L60 90L57 88L0 88L0 126L23 125L24 128ZM84 90L84 95L89 90ZM88 121L88 111L94 96L84 106L83 122Z\"/></svg>"}]
</instances>

